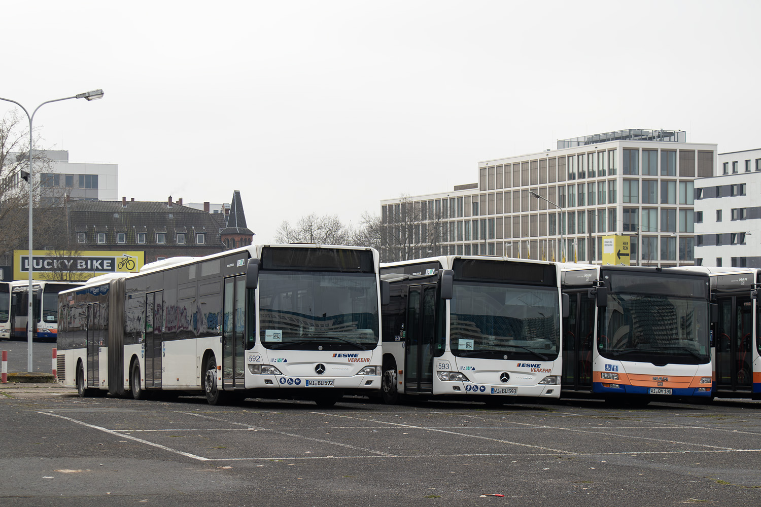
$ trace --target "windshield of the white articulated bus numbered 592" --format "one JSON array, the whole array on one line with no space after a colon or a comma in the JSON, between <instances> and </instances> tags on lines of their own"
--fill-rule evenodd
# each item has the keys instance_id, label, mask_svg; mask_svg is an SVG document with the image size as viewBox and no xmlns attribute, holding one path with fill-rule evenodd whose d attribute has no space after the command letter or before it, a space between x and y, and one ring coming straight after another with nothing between
<instances>
[{"instance_id":1,"label":"windshield of the white articulated bus numbered 592","mask_svg":"<svg viewBox=\"0 0 761 507\"><path fill-rule=\"evenodd\" d=\"M261 271L256 292L260 341L269 349L377 347L375 274Z\"/></svg>"}]
</instances>

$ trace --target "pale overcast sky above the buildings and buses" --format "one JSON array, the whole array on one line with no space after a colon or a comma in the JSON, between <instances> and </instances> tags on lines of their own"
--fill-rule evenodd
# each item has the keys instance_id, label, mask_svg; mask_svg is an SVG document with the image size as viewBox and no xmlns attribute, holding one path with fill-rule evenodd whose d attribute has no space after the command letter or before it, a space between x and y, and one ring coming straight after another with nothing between
<instances>
[{"instance_id":1,"label":"pale overcast sky above the buildings and buses","mask_svg":"<svg viewBox=\"0 0 761 507\"><path fill-rule=\"evenodd\" d=\"M119 195L358 225L477 162L622 128L761 147L761 2L3 2L0 97ZM11 104L0 102L0 114Z\"/></svg>"}]
</instances>

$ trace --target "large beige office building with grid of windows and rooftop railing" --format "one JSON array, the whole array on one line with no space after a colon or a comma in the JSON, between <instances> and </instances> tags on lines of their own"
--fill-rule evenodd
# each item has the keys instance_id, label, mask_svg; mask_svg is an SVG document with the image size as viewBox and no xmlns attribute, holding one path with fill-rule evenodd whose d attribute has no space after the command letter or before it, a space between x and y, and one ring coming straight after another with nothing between
<instances>
[{"instance_id":1,"label":"large beige office building with grid of windows and rooftop railing","mask_svg":"<svg viewBox=\"0 0 761 507\"><path fill-rule=\"evenodd\" d=\"M687 143L683 131L587 135L479 162L478 183L454 192L385 199L381 220L412 230L413 257L559 260L562 242L566 260L600 261L603 236L617 234L631 236L632 265L693 265L693 180L716 166L716 144ZM390 244L384 260L401 253Z\"/></svg>"}]
</instances>

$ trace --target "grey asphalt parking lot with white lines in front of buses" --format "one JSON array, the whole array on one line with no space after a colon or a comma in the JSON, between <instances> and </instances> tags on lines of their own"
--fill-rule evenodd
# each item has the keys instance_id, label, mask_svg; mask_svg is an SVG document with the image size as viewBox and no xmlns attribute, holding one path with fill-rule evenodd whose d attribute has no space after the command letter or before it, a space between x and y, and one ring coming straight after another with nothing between
<instances>
[{"instance_id":1,"label":"grey asphalt parking lot with white lines in front of buses","mask_svg":"<svg viewBox=\"0 0 761 507\"><path fill-rule=\"evenodd\" d=\"M761 404L385 406L0 389L3 505L755 504ZM483 496L500 494L505 496Z\"/></svg>"}]
</instances>

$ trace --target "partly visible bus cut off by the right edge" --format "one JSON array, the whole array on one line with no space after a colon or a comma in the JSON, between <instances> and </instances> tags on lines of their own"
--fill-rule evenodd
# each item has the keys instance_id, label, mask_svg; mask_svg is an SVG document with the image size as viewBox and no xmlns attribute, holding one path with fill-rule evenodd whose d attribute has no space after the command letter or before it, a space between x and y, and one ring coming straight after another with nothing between
<instances>
[{"instance_id":1,"label":"partly visible bus cut off by the right edge","mask_svg":"<svg viewBox=\"0 0 761 507\"><path fill-rule=\"evenodd\" d=\"M761 399L761 308L757 297L761 271L707 266L685 269L708 274L712 301L718 306L717 322L711 328L712 395Z\"/></svg>"}]
</instances>

